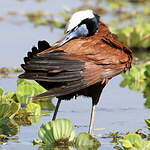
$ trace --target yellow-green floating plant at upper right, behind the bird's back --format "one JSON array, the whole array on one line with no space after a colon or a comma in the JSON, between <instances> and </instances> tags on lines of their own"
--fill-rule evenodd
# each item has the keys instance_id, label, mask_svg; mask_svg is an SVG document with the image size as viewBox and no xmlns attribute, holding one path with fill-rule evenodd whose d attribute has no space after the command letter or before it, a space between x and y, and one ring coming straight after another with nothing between
<instances>
[{"instance_id":1,"label":"yellow-green floating plant at upper right, behind the bird's back","mask_svg":"<svg viewBox=\"0 0 150 150\"><path fill-rule=\"evenodd\" d=\"M137 18L136 25L130 25L121 29L115 29L118 36L130 48L140 49L150 47L150 22Z\"/></svg>"}]
</instances>

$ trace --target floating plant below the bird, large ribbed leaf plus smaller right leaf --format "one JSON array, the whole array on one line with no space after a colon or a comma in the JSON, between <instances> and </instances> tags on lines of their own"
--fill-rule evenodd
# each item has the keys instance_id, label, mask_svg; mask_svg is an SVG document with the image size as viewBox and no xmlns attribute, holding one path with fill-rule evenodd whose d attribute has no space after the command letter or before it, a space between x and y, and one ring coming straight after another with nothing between
<instances>
[{"instance_id":1,"label":"floating plant below the bird, large ribbed leaf plus smaller right leaf","mask_svg":"<svg viewBox=\"0 0 150 150\"><path fill-rule=\"evenodd\" d=\"M77 137L75 135L76 132L72 130L72 123L68 119L47 122L39 130L39 137L42 139L43 144L49 147L97 148L100 146L100 142L88 133L80 133ZM34 140L34 143L38 142Z\"/></svg>"}]
</instances>

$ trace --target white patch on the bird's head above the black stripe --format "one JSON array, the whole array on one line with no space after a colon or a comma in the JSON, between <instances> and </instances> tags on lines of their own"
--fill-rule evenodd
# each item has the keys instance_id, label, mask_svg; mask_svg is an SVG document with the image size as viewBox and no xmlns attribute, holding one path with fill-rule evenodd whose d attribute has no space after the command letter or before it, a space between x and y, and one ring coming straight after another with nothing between
<instances>
[{"instance_id":1,"label":"white patch on the bird's head above the black stripe","mask_svg":"<svg viewBox=\"0 0 150 150\"><path fill-rule=\"evenodd\" d=\"M68 27L67 27L67 32L71 31L73 28L75 28L77 25L81 23L84 19L87 18L94 18L94 14L92 10L82 10L74 13L69 20Z\"/></svg>"}]
</instances>

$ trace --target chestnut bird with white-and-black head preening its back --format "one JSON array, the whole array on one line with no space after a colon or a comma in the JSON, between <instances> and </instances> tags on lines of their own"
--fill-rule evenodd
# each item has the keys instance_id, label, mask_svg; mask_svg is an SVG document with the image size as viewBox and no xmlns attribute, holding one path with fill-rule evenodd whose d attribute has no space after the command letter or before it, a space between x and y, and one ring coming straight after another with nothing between
<instances>
[{"instance_id":1,"label":"chestnut bird with white-and-black head preening its back","mask_svg":"<svg viewBox=\"0 0 150 150\"><path fill-rule=\"evenodd\" d=\"M93 135L96 105L108 81L130 70L132 51L111 33L92 10L75 12L63 38L50 45L38 42L24 57L24 73L19 78L35 80L46 92L34 99L57 97L52 120L62 100L78 96L92 99L89 134Z\"/></svg>"}]
</instances>

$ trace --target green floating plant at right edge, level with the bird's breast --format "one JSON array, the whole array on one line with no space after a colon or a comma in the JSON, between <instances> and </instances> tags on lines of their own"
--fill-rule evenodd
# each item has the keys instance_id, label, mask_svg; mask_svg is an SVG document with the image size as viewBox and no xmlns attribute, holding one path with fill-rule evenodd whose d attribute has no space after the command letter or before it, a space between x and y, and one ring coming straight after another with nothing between
<instances>
[{"instance_id":1,"label":"green floating plant at right edge, level with the bird's breast","mask_svg":"<svg viewBox=\"0 0 150 150\"><path fill-rule=\"evenodd\" d=\"M142 64L133 66L130 72L122 74L124 80L120 86L125 87L128 85L130 90L142 92L146 98L145 106L150 107L150 64Z\"/></svg>"}]
</instances>

